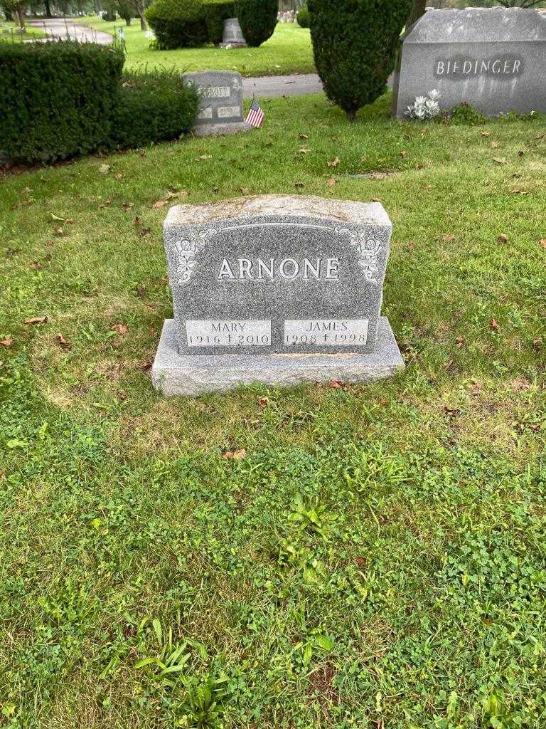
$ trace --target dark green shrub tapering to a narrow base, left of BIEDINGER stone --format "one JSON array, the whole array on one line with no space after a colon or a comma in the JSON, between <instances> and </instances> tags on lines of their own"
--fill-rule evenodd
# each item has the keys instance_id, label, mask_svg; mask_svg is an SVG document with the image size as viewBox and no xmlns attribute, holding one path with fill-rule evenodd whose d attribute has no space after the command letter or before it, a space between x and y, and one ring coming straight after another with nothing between
<instances>
[{"instance_id":1,"label":"dark green shrub tapering to a narrow base, left of BIEDINGER stone","mask_svg":"<svg viewBox=\"0 0 546 729\"><path fill-rule=\"evenodd\" d=\"M412 0L309 0L314 63L349 120L387 88Z\"/></svg>"}]
</instances>

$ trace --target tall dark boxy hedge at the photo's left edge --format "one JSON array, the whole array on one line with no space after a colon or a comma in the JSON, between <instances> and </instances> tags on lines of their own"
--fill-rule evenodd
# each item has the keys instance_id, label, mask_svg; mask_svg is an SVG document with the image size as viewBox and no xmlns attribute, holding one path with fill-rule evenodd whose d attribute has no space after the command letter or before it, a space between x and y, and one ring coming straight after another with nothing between
<instances>
[{"instance_id":1,"label":"tall dark boxy hedge at the photo's left edge","mask_svg":"<svg viewBox=\"0 0 546 729\"><path fill-rule=\"evenodd\" d=\"M124 57L94 43L0 43L0 147L50 162L108 144Z\"/></svg>"}]
</instances>

